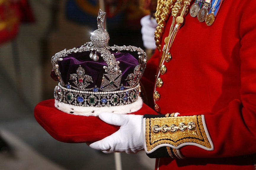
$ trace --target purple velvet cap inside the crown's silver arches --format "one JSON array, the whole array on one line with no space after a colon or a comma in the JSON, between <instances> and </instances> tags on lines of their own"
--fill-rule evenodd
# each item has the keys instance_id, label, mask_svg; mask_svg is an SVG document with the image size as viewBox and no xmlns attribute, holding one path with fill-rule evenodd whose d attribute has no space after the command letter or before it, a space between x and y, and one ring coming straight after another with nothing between
<instances>
[{"instance_id":1,"label":"purple velvet cap inside the crown's silver arches","mask_svg":"<svg viewBox=\"0 0 256 170\"><path fill-rule=\"evenodd\" d=\"M133 73L134 68L139 65L138 60L133 57L130 53L122 52L122 53L112 53L115 55L117 61L120 61L119 67L122 71L121 83L123 86L128 86L127 76ZM66 57L63 57L62 61L59 61L59 71L62 75L62 80L65 85L68 83L74 86L73 80L70 80L70 75L76 73L78 67L81 67L85 70L85 75L89 75L92 77L93 82L88 82L86 88L94 88L95 86L100 89L100 85L102 83L103 74L107 74L103 66L107 66L106 62L99 55L99 61L95 62L90 57L90 52L77 52L70 53Z\"/></svg>"}]
</instances>

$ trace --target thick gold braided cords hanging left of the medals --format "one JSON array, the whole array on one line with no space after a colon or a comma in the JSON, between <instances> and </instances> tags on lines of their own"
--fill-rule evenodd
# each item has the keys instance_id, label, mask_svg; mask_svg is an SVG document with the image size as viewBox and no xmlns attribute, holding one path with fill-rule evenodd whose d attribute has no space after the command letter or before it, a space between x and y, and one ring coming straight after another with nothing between
<instances>
[{"instance_id":1,"label":"thick gold braided cords hanging left of the medals","mask_svg":"<svg viewBox=\"0 0 256 170\"><path fill-rule=\"evenodd\" d=\"M173 16L172 25L169 30L168 39L165 39L165 43L168 42L170 38L170 34L173 31L174 24L176 21L176 17L181 14L181 11L183 9L184 5L189 5L191 0L158 0L157 2L157 11L155 14L156 21L157 21L157 28L155 31L155 40L157 49L161 50L161 41L162 41L162 35L165 31L165 25L166 21L170 17L170 14ZM188 12L188 8L185 11L185 15Z\"/></svg>"}]
</instances>

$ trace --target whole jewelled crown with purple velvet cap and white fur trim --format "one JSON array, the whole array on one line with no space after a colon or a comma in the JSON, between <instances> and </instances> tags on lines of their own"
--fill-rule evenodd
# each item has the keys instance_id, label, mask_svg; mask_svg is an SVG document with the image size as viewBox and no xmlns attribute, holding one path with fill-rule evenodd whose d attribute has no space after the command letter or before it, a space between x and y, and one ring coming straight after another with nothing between
<instances>
[{"instance_id":1,"label":"whole jewelled crown with purple velvet cap and white fur trim","mask_svg":"<svg viewBox=\"0 0 256 170\"><path fill-rule=\"evenodd\" d=\"M96 116L101 112L131 113L139 110L139 80L147 55L135 46L107 46L106 13L99 10L98 29L91 41L64 49L51 59L55 107L75 115Z\"/></svg>"}]
</instances>

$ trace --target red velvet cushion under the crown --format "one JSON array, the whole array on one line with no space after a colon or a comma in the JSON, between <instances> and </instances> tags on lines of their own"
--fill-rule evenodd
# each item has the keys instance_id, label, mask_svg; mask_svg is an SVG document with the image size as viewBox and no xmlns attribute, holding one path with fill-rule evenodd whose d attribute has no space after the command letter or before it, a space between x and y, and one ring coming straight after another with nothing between
<instances>
[{"instance_id":1,"label":"red velvet cushion under the crown","mask_svg":"<svg viewBox=\"0 0 256 170\"><path fill-rule=\"evenodd\" d=\"M143 103L136 115L157 114ZM54 99L38 103L34 109L36 121L56 140L67 143L83 143L101 140L119 129L95 116L79 116L64 113L54 106Z\"/></svg>"}]
</instances>

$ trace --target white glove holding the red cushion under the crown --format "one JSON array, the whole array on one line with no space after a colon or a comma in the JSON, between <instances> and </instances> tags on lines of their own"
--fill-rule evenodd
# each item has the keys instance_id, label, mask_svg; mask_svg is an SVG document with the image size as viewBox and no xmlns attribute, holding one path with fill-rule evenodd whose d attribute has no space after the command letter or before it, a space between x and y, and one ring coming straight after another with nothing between
<instances>
[{"instance_id":1,"label":"white glove holding the red cushion under the crown","mask_svg":"<svg viewBox=\"0 0 256 170\"><path fill-rule=\"evenodd\" d=\"M121 126L118 131L89 146L104 153L125 152L135 154L144 149L142 115L100 113L99 118L111 125Z\"/></svg>"}]
</instances>

